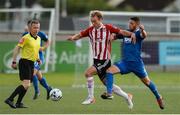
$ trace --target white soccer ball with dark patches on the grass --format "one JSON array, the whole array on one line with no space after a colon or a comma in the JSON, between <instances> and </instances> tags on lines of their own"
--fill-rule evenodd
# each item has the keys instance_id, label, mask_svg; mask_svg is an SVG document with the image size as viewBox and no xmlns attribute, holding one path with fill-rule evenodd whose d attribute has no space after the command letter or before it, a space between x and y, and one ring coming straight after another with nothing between
<instances>
[{"instance_id":1,"label":"white soccer ball with dark patches on the grass","mask_svg":"<svg viewBox=\"0 0 180 115\"><path fill-rule=\"evenodd\" d=\"M62 92L60 89L54 88L50 91L49 96L51 100L58 101L62 98Z\"/></svg>"}]
</instances>

